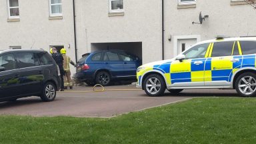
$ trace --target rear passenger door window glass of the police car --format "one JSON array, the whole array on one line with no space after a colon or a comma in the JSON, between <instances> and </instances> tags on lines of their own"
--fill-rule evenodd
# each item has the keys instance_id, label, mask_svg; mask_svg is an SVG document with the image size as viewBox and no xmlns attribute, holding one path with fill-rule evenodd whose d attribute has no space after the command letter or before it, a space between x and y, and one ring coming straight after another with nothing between
<instances>
[{"instance_id":1,"label":"rear passenger door window glass of the police car","mask_svg":"<svg viewBox=\"0 0 256 144\"><path fill-rule=\"evenodd\" d=\"M232 54L234 41L214 43L211 57L223 57Z\"/></svg>"}]
</instances>

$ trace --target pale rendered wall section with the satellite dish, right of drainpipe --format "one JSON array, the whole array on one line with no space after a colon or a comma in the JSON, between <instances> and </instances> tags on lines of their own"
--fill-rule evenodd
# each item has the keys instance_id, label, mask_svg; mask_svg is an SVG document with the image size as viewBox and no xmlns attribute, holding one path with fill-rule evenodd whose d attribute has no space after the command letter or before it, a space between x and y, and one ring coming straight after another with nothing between
<instances>
[{"instance_id":1,"label":"pale rendered wall section with the satellite dish, right of drainpipe","mask_svg":"<svg viewBox=\"0 0 256 144\"><path fill-rule=\"evenodd\" d=\"M197 0L196 8L177 9L177 3L165 1L165 59L174 56L174 41L168 41L169 35L201 35L202 41L217 35L256 35L256 10L249 5L231 5L230 0ZM203 25L192 25L192 21L199 21L200 11L209 19Z\"/></svg>"}]
</instances>

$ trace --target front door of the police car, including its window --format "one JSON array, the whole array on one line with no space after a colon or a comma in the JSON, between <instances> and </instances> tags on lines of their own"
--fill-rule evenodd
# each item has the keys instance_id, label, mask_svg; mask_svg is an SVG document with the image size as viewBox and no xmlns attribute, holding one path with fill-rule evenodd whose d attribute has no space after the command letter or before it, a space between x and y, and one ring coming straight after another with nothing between
<instances>
[{"instance_id":1,"label":"front door of the police car, including its window","mask_svg":"<svg viewBox=\"0 0 256 144\"><path fill-rule=\"evenodd\" d=\"M209 43L196 45L185 51L185 59L175 60L171 63L172 87L194 87L204 85L205 55Z\"/></svg>"}]
</instances>

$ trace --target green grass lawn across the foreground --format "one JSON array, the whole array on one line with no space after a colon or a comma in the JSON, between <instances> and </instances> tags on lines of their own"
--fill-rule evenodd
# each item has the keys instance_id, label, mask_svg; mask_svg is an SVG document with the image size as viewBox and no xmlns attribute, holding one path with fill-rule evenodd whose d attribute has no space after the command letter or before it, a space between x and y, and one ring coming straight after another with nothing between
<instances>
[{"instance_id":1,"label":"green grass lawn across the foreground","mask_svg":"<svg viewBox=\"0 0 256 144\"><path fill-rule=\"evenodd\" d=\"M198 98L111 119L0 117L0 143L255 143L256 99Z\"/></svg>"}]
</instances>

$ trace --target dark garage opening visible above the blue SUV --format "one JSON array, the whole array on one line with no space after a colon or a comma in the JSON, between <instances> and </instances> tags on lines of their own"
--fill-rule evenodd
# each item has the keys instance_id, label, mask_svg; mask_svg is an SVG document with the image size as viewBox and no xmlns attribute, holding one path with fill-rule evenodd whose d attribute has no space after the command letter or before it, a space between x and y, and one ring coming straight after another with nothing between
<instances>
[{"instance_id":1,"label":"dark garage opening visible above the blue SUV","mask_svg":"<svg viewBox=\"0 0 256 144\"><path fill-rule=\"evenodd\" d=\"M91 51L123 50L136 55L142 60L142 42L129 43L91 43Z\"/></svg>"}]
</instances>

